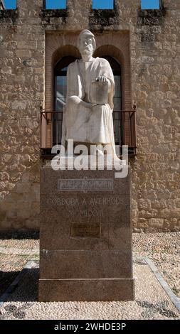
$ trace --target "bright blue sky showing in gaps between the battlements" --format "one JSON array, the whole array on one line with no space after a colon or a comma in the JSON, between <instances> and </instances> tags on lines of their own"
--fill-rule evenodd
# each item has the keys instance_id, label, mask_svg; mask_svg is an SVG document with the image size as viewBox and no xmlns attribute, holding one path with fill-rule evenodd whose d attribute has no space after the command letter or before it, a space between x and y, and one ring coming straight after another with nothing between
<instances>
[{"instance_id":1,"label":"bright blue sky showing in gaps between the battlements","mask_svg":"<svg viewBox=\"0 0 180 334\"><path fill-rule=\"evenodd\" d=\"M23 0L22 0L23 1ZM141 0L142 9L158 9L159 0ZM46 8L65 8L66 0L46 0ZM16 0L4 0L6 9L16 9ZM61 6L60 6L61 5ZM113 8L113 0L92 0L92 8Z\"/></svg>"}]
</instances>

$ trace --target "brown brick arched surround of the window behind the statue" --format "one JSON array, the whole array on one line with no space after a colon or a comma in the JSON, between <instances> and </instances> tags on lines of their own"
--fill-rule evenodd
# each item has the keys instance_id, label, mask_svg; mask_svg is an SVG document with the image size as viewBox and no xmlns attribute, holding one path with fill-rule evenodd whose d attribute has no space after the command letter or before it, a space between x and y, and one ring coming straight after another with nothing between
<instances>
[{"instance_id":1,"label":"brown brick arched surround of the window behind the statue","mask_svg":"<svg viewBox=\"0 0 180 334\"><path fill-rule=\"evenodd\" d=\"M129 57L129 33L120 35L97 34L97 49L94 57L111 57L120 65L121 73L121 90L122 90L122 110L120 132L122 145L129 146L129 153L134 153L137 145L136 139L136 108L132 107L132 90L131 90L131 68ZM63 63L63 57L72 56L80 58L80 53L76 45L74 33L65 34L62 38L61 34L46 36L46 86L45 86L45 109L41 109L41 150L42 155L48 154L52 146L56 143L60 144L61 134L53 136L53 117L55 115L55 68L58 68L60 62ZM121 45L121 47L120 47ZM72 61L72 60L71 60ZM70 63L70 62L69 62ZM66 64L68 65L68 64ZM66 66L67 67L67 66ZM63 67L65 68L65 66ZM63 70L59 68L59 70ZM65 69L66 71L66 69ZM64 71L64 72L65 72ZM63 72L63 71L62 71ZM66 73L62 73L66 74ZM60 101L58 101L59 103ZM57 109L60 109L57 107ZM119 108L118 108L119 109ZM63 114L62 112L59 112ZM115 116L115 114L114 114ZM55 117L58 117L55 115ZM59 121L58 121L59 122ZM62 120L60 120L62 122ZM57 124L56 124L57 125ZM56 131L57 132L57 131ZM58 132L57 132L58 133ZM116 135L117 136L117 135ZM55 139L54 139L55 138ZM117 142L117 139L116 139ZM131 149L131 151L130 151Z\"/></svg>"}]
</instances>

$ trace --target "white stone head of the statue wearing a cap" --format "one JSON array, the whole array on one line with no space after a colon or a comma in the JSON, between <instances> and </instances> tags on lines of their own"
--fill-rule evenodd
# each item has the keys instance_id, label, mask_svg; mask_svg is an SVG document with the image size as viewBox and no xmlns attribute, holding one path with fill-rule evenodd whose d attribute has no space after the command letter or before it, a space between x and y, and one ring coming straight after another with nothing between
<instances>
[{"instance_id":1,"label":"white stone head of the statue wearing a cap","mask_svg":"<svg viewBox=\"0 0 180 334\"><path fill-rule=\"evenodd\" d=\"M78 36L78 49L80 54L93 54L96 49L95 35L88 29L81 31Z\"/></svg>"}]
</instances>

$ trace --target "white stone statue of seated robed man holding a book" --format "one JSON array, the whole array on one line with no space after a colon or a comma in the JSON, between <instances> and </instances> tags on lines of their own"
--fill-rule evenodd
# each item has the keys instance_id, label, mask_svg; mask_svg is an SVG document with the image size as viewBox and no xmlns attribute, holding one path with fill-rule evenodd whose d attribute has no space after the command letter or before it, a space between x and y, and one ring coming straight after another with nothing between
<instances>
[{"instance_id":1,"label":"white stone statue of seated robed man holding a book","mask_svg":"<svg viewBox=\"0 0 180 334\"><path fill-rule=\"evenodd\" d=\"M68 66L62 144L68 139L80 144L110 144L115 152L112 69L107 60L92 57L96 43L90 31L80 33L78 48L82 59Z\"/></svg>"}]
</instances>

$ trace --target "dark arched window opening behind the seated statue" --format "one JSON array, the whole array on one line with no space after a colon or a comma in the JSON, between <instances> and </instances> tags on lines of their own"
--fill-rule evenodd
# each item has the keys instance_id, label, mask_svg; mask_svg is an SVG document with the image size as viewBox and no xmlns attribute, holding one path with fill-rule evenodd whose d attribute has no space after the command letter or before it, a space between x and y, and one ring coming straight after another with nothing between
<instances>
[{"instance_id":1,"label":"dark arched window opening behind the seated statue","mask_svg":"<svg viewBox=\"0 0 180 334\"><path fill-rule=\"evenodd\" d=\"M114 131L115 131L115 144L122 144L122 89L121 89L121 67L117 61L108 56L103 55L101 58L105 58L111 65L112 72L115 77L115 97L114 97ZM68 65L75 61L75 57L66 56L60 59L55 65L54 69L54 113L53 118L53 144L60 144L62 136L62 121L63 111L66 102L66 75Z\"/></svg>"}]
</instances>

